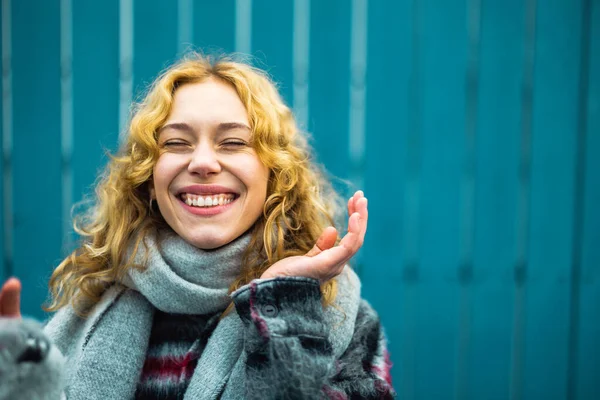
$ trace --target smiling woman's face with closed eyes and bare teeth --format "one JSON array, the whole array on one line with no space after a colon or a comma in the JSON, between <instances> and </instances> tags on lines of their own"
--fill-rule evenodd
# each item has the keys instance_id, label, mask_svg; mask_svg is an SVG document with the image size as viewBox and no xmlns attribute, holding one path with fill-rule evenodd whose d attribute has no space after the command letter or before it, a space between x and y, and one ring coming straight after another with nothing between
<instances>
[{"instance_id":1,"label":"smiling woman's face with closed eyes and bare teeth","mask_svg":"<svg viewBox=\"0 0 600 400\"><path fill-rule=\"evenodd\" d=\"M223 246L262 214L269 170L250 139L248 113L233 86L211 78L175 92L159 131L151 195L188 243Z\"/></svg>"}]
</instances>

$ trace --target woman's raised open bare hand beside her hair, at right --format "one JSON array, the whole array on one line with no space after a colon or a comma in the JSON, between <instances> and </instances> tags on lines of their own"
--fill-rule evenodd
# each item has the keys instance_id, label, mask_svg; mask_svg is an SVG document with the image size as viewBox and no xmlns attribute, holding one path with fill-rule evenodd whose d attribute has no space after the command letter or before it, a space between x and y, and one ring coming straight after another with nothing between
<instances>
[{"instance_id":1,"label":"woman's raised open bare hand beside her hair, at right","mask_svg":"<svg viewBox=\"0 0 600 400\"><path fill-rule=\"evenodd\" d=\"M367 232L368 216L367 199L359 190L348 200L348 232L337 246L337 230L330 226L323 231L308 253L276 262L261 278L305 276L323 283L336 277L362 247Z\"/></svg>"}]
</instances>

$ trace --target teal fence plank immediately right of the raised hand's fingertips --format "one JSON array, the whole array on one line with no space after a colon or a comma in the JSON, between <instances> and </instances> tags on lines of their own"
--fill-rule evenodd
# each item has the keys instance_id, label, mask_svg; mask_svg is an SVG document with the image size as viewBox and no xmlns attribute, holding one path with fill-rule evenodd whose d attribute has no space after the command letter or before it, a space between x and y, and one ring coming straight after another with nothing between
<instances>
[{"instance_id":1,"label":"teal fence plank immediately right of the raised hand's fingertips","mask_svg":"<svg viewBox=\"0 0 600 400\"><path fill-rule=\"evenodd\" d=\"M403 399L416 398L414 301L419 219L407 205L415 201L405 200L410 192L418 203L418 188L407 188L405 183L407 169L418 183L420 162L420 132L414 118L419 92L411 90L419 61L413 45L417 39L413 34L414 7L394 0L369 2L367 23L365 193L372 223L365 240L361 279L363 295L379 311L386 329L394 385ZM413 218L403 212L406 209ZM404 261L406 254L412 254L412 259ZM407 269L411 272L403 275ZM390 295L399 307L391 306Z\"/></svg>"}]
</instances>

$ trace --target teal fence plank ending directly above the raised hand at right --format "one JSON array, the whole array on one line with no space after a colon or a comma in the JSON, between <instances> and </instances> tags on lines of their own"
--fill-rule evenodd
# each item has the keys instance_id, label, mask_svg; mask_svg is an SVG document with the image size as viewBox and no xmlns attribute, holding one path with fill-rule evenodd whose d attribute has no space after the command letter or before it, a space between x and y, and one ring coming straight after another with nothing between
<instances>
[{"instance_id":1,"label":"teal fence plank ending directly above the raised hand at right","mask_svg":"<svg viewBox=\"0 0 600 400\"><path fill-rule=\"evenodd\" d=\"M308 130L313 133L318 160L338 178L347 178L350 168L350 4L334 0L310 5ZM339 183L338 189L343 189Z\"/></svg>"}]
</instances>

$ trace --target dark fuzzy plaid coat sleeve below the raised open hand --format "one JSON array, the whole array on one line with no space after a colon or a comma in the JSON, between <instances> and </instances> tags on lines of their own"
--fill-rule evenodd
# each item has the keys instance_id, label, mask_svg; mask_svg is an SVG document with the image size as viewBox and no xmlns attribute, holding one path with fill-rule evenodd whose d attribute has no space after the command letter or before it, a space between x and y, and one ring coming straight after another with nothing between
<instances>
[{"instance_id":1,"label":"dark fuzzy plaid coat sleeve below the raised open hand","mask_svg":"<svg viewBox=\"0 0 600 400\"><path fill-rule=\"evenodd\" d=\"M385 336L363 300L345 352L336 359L317 280L253 281L233 294L245 329L249 399L391 399Z\"/></svg>"}]
</instances>

